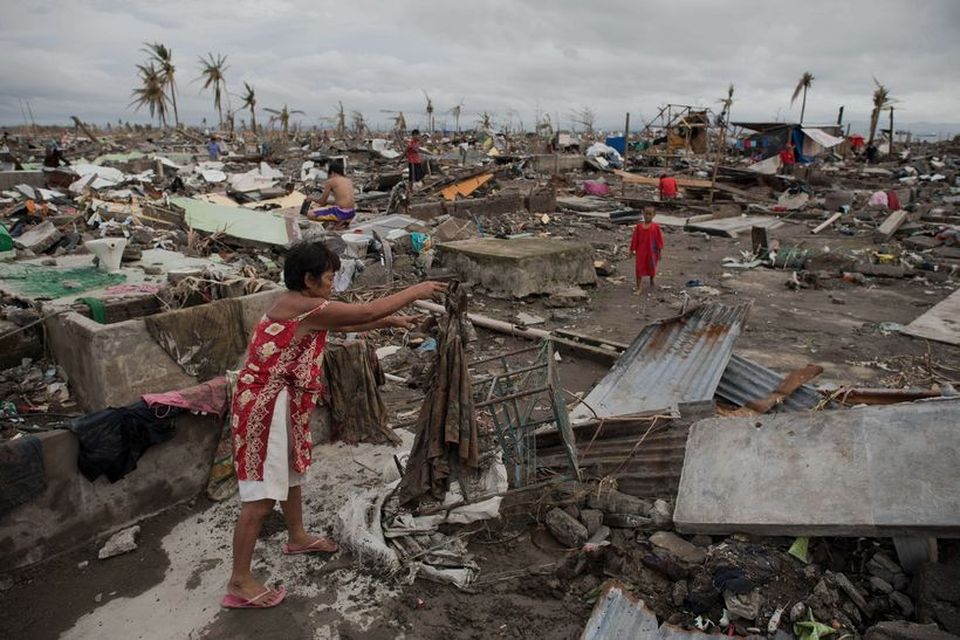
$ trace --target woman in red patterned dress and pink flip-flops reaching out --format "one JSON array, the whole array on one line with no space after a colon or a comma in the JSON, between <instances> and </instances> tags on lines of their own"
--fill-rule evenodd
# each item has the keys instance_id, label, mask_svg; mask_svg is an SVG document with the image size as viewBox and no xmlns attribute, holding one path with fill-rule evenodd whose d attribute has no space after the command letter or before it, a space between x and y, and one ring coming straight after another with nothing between
<instances>
[{"instance_id":1,"label":"woman in red patterned dress and pink flip-flops reaching out","mask_svg":"<svg viewBox=\"0 0 960 640\"><path fill-rule=\"evenodd\" d=\"M415 300L446 290L422 282L366 304L331 300L340 258L322 242L292 246L283 265L287 292L254 329L230 410L233 461L242 508L233 533L233 569L221 606L274 607L286 597L251 572L264 520L279 501L287 524L284 555L331 553L336 542L307 533L301 486L313 449L310 415L324 392L323 350L328 331L413 328L418 318L394 315Z\"/></svg>"}]
</instances>

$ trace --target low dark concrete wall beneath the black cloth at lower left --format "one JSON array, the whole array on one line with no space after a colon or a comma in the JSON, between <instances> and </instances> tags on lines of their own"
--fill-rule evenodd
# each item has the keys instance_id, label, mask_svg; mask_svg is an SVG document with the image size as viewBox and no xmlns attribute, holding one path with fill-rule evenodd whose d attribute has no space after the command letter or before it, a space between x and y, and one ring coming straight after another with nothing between
<instances>
[{"instance_id":1,"label":"low dark concrete wall beneath the black cloth at lower left","mask_svg":"<svg viewBox=\"0 0 960 640\"><path fill-rule=\"evenodd\" d=\"M0 521L0 567L39 562L197 495L206 486L221 421L185 414L176 425L172 440L148 449L114 484L80 473L72 433L40 434L47 490Z\"/></svg>"}]
</instances>

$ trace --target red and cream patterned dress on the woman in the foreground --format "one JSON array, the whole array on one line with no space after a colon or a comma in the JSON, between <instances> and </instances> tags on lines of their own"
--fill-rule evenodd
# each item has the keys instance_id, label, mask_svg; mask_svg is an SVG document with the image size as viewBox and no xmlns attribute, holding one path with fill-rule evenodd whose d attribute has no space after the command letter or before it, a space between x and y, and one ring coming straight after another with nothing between
<instances>
[{"instance_id":1,"label":"red and cream patterned dress on the woman in the foreground","mask_svg":"<svg viewBox=\"0 0 960 640\"><path fill-rule=\"evenodd\" d=\"M323 348L327 332L312 331L296 337L296 331L304 318L327 304L325 300L290 320L263 316L254 329L231 409L233 462L238 480L263 479L270 423L277 396L283 389L289 394L293 469L304 473L310 466L310 414L324 392Z\"/></svg>"}]
</instances>

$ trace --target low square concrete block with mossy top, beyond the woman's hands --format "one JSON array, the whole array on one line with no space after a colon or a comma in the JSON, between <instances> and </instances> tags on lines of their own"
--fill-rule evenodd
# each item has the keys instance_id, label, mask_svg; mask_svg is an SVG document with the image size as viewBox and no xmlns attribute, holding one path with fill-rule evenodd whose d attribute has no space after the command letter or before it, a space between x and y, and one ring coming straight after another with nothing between
<instances>
[{"instance_id":1,"label":"low square concrete block with mossy top, beyond the woman's hands","mask_svg":"<svg viewBox=\"0 0 960 640\"><path fill-rule=\"evenodd\" d=\"M480 238L438 245L445 267L466 282L516 298L593 285L593 248L549 238Z\"/></svg>"}]
</instances>

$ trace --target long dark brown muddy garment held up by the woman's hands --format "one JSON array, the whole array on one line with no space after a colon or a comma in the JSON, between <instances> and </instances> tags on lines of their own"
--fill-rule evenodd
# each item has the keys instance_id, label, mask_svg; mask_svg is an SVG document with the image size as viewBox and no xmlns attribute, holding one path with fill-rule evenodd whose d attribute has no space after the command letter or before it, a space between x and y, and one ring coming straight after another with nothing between
<instances>
[{"instance_id":1,"label":"long dark brown muddy garment held up by the woman's hands","mask_svg":"<svg viewBox=\"0 0 960 640\"><path fill-rule=\"evenodd\" d=\"M480 464L473 388L464 354L469 331L467 294L460 283L450 283L445 306L430 386L417 417L417 437L400 481L402 505L418 502L428 493L443 500L460 468L475 472Z\"/></svg>"}]
</instances>

